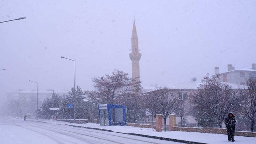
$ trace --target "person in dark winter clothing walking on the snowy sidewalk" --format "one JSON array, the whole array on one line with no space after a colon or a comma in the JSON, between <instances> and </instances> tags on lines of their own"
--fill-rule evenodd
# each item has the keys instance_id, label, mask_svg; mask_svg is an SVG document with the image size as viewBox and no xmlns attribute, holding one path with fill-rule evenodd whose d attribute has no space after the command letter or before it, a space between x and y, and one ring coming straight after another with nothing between
<instances>
[{"instance_id":1,"label":"person in dark winter clothing walking on the snowy sidewalk","mask_svg":"<svg viewBox=\"0 0 256 144\"><path fill-rule=\"evenodd\" d=\"M234 141L234 132L236 128L236 118L234 118L234 114L230 112L228 116L225 118L225 125L228 133L228 140Z\"/></svg>"}]
</instances>

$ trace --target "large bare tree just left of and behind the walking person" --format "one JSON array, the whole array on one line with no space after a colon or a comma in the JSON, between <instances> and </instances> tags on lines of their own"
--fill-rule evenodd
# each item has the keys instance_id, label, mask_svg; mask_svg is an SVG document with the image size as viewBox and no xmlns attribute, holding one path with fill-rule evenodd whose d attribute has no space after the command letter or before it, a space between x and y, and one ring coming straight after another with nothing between
<instances>
[{"instance_id":1,"label":"large bare tree just left of and behind the walking person","mask_svg":"<svg viewBox=\"0 0 256 144\"><path fill-rule=\"evenodd\" d=\"M213 114L221 128L227 114L236 104L233 101L235 95L232 87L226 83L217 82L218 75L210 78L207 74L203 79L203 85L198 87L198 92L193 96L193 103L199 108L205 109L205 113Z\"/></svg>"}]
</instances>

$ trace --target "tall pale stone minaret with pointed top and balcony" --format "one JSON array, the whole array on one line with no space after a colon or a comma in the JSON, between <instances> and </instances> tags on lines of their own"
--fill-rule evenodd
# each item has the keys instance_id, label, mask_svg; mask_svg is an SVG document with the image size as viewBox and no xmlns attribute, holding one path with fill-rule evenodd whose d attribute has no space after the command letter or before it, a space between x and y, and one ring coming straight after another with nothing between
<instances>
[{"instance_id":1,"label":"tall pale stone minaret with pointed top and balcony","mask_svg":"<svg viewBox=\"0 0 256 144\"><path fill-rule=\"evenodd\" d=\"M139 53L138 36L135 26L135 18L133 15L133 27L132 27L132 53L129 54L132 61L132 78L136 78L140 81L140 58L141 53Z\"/></svg>"}]
</instances>

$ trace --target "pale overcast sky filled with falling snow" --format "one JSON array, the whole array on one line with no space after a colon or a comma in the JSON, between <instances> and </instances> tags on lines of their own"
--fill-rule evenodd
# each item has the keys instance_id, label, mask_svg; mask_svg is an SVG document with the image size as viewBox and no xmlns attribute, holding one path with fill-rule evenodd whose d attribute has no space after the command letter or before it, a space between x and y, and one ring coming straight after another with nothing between
<instances>
[{"instance_id":1,"label":"pale overcast sky filled with falling snow","mask_svg":"<svg viewBox=\"0 0 256 144\"><path fill-rule=\"evenodd\" d=\"M93 89L92 77L131 74L133 15L143 86L251 67L256 1L0 0L0 97L16 89Z\"/></svg>"}]
</instances>

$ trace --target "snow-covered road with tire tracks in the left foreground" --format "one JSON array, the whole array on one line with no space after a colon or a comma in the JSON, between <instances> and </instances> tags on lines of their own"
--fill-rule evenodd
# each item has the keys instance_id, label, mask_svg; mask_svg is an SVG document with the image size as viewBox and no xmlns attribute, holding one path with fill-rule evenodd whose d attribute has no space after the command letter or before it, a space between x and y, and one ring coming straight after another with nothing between
<instances>
[{"instance_id":1,"label":"snow-covered road with tire tracks in the left foreground","mask_svg":"<svg viewBox=\"0 0 256 144\"><path fill-rule=\"evenodd\" d=\"M0 141L4 144L170 144L171 141L121 133L75 128L66 125L0 118ZM178 143L177 143L178 144Z\"/></svg>"}]
</instances>

